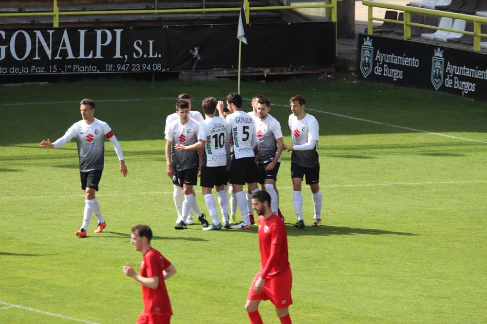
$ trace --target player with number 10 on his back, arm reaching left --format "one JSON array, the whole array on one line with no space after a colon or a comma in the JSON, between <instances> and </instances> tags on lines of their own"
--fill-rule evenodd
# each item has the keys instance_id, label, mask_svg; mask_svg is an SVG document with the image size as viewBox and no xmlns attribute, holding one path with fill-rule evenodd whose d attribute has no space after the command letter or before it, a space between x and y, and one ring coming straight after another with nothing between
<instances>
[{"instance_id":1,"label":"player with number 10 on his back, arm reaching left","mask_svg":"<svg viewBox=\"0 0 487 324\"><path fill-rule=\"evenodd\" d=\"M226 150L225 150L225 119L215 116L217 100L213 97L205 98L202 102L205 120L199 125L198 142L189 146L176 144L178 151L203 149L203 166L201 168L202 193L206 207L211 216L211 225L204 230L219 230L222 224L218 219L216 202L211 190L216 187L218 202L222 209L225 228L230 228L228 222L228 199L226 197Z\"/></svg>"}]
</instances>

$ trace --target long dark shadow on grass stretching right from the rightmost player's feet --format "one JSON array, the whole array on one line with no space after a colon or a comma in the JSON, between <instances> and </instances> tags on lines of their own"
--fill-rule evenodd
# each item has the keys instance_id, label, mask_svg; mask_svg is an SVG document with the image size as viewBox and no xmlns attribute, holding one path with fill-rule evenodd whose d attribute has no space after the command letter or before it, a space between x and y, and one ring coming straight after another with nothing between
<instances>
[{"instance_id":1,"label":"long dark shadow on grass stretching right from the rightmost player's feet","mask_svg":"<svg viewBox=\"0 0 487 324\"><path fill-rule=\"evenodd\" d=\"M326 226L319 227L306 226L304 229L295 228L294 224L286 223L287 236L304 236L304 235L403 235L403 236L419 236L419 234L407 233L407 232L393 232L381 229L372 228L352 228L352 227L339 227L339 226Z\"/></svg>"}]
</instances>

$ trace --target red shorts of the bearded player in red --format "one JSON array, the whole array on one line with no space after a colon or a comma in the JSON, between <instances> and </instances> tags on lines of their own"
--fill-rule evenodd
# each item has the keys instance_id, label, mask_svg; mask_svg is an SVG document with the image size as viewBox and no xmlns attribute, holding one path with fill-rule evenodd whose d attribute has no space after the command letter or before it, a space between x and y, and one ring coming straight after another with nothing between
<instances>
[{"instance_id":1,"label":"red shorts of the bearded player in red","mask_svg":"<svg viewBox=\"0 0 487 324\"><path fill-rule=\"evenodd\" d=\"M254 292L254 285L261 273L257 273L248 290L248 300L270 300L276 308L286 308L293 303L291 298L291 287L293 285L293 275L291 268L265 279L264 287L261 292Z\"/></svg>"}]
</instances>

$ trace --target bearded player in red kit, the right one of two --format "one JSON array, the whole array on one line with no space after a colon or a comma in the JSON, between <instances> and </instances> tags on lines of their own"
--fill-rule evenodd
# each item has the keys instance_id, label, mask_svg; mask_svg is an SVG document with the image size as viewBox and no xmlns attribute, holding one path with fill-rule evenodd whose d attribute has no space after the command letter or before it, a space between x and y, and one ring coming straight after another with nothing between
<instances>
[{"instance_id":1,"label":"bearded player in red kit, the right one of two","mask_svg":"<svg viewBox=\"0 0 487 324\"><path fill-rule=\"evenodd\" d=\"M293 276L288 261L286 226L272 213L270 205L271 197L266 191L252 196L252 207L261 215L258 229L261 267L250 285L245 310L250 324L262 324L259 303L269 299L276 307L281 324L291 324L288 307L293 303Z\"/></svg>"}]
</instances>

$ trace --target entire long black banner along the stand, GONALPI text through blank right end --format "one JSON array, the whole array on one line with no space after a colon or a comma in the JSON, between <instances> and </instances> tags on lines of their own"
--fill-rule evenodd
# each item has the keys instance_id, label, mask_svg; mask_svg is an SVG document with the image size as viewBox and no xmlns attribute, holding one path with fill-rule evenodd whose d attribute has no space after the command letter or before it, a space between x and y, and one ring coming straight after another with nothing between
<instances>
[{"instance_id":1,"label":"entire long black banner along the stand, GONALPI text through blank right end","mask_svg":"<svg viewBox=\"0 0 487 324\"><path fill-rule=\"evenodd\" d=\"M335 63L334 22L253 24L246 36L243 68ZM0 75L236 68L238 51L237 24L6 29L0 30Z\"/></svg>"}]
</instances>

